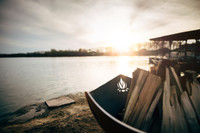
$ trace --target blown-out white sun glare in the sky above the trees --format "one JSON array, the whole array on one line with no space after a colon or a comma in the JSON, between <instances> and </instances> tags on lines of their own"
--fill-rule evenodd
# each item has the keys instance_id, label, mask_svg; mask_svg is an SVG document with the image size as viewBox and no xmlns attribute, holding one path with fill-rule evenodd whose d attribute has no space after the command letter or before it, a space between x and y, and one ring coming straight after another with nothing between
<instances>
[{"instance_id":1,"label":"blown-out white sun glare in the sky above the trees","mask_svg":"<svg viewBox=\"0 0 200 133\"><path fill-rule=\"evenodd\" d=\"M112 47L115 52L130 52L134 44L141 42L142 35L136 30L133 31L126 19L116 21L114 18L107 18L107 21L96 21L92 26L95 34L86 36L92 43L101 43L102 46ZM110 21L109 21L110 20ZM118 17L117 17L118 20ZM101 23L100 23L101 22ZM110 23L109 23L110 22ZM111 23L116 22L116 23Z\"/></svg>"}]
</instances>

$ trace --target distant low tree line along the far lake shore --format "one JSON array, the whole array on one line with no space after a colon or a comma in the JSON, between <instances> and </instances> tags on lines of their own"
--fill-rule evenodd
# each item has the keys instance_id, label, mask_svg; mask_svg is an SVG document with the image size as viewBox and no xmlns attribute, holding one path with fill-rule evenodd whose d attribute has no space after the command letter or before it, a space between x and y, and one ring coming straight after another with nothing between
<instances>
[{"instance_id":1,"label":"distant low tree line along the far lake shore","mask_svg":"<svg viewBox=\"0 0 200 133\"><path fill-rule=\"evenodd\" d=\"M162 52L168 52L167 48L164 48ZM148 56L148 55L158 55L161 50L146 50L140 49L138 51L118 53L116 51L100 51L100 50L90 50L90 49L79 49L79 50L56 50L51 49L50 51L40 51L31 53L14 53L14 54L0 54L0 57L65 57L65 56L119 56L119 55L129 55L129 56Z\"/></svg>"}]
</instances>

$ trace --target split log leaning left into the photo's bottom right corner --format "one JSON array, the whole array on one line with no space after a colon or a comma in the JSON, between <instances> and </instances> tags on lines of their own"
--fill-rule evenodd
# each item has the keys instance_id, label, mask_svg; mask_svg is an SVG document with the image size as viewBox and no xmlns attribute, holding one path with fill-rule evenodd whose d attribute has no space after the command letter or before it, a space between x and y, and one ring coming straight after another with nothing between
<instances>
[{"instance_id":1,"label":"split log leaning left into the photo's bottom right corner","mask_svg":"<svg viewBox=\"0 0 200 133\"><path fill-rule=\"evenodd\" d=\"M190 99L189 99L186 91L184 91L181 94L180 101L181 101L181 104L183 106L183 109L184 109L184 112L185 112L185 117L186 117L186 120L189 124L190 130L193 133L199 133L200 132L200 126L199 126L195 111L192 107L192 104L190 102Z\"/></svg>"}]
</instances>

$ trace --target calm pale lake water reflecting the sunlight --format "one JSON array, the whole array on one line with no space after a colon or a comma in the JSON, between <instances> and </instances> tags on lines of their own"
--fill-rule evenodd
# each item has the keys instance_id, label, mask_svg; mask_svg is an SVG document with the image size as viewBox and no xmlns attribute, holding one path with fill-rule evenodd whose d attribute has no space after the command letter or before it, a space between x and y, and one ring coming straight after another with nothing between
<instances>
[{"instance_id":1,"label":"calm pale lake water reflecting the sunlight","mask_svg":"<svg viewBox=\"0 0 200 133\"><path fill-rule=\"evenodd\" d=\"M147 56L0 58L0 115L69 93L91 91L119 74L149 70Z\"/></svg>"}]
</instances>

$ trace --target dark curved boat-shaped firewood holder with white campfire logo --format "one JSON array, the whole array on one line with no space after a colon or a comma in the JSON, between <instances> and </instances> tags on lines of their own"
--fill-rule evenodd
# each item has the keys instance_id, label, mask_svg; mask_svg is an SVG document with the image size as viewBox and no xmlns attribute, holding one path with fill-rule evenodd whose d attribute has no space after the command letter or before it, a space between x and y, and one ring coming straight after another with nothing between
<instances>
[{"instance_id":1,"label":"dark curved boat-shaped firewood holder with white campfire logo","mask_svg":"<svg viewBox=\"0 0 200 133\"><path fill-rule=\"evenodd\" d=\"M119 75L91 92L86 99L96 120L105 132L143 132L124 122L119 113L125 108L131 78Z\"/></svg>"}]
</instances>

